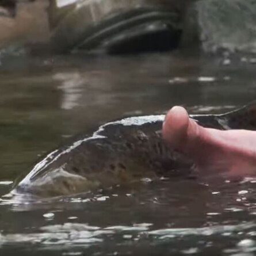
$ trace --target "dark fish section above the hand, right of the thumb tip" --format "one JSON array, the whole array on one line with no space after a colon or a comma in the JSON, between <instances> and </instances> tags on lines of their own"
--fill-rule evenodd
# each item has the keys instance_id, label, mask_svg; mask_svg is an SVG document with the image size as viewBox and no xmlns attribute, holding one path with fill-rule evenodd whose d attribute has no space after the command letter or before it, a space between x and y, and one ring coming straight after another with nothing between
<instances>
[{"instance_id":1,"label":"dark fish section above the hand, right of the thumb tip","mask_svg":"<svg viewBox=\"0 0 256 256\"><path fill-rule=\"evenodd\" d=\"M256 101L224 114L192 115L191 117L204 127L256 131Z\"/></svg>"}]
</instances>

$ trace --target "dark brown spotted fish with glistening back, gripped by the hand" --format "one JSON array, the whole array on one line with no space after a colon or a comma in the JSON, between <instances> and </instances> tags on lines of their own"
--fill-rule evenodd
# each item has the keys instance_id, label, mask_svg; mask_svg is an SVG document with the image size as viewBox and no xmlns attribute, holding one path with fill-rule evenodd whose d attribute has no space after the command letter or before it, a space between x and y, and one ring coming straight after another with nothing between
<instances>
[{"instance_id":1,"label":"dark brown spotted fish with glistening back, gripped by the hand","mask_svg":"<svg viewBox=\"0 0 256 256\"><path fill-rule=\"evenodd\" d=\"M256 106L220 115L190 116L217 129L255 129ZM246 115L246 119L242 117ZM43 158L11 194L55 197L127 184L142 178L189 174L193 162L162 139L164 115L129 117L102 125Z\"/></svg>"}]
</instances>

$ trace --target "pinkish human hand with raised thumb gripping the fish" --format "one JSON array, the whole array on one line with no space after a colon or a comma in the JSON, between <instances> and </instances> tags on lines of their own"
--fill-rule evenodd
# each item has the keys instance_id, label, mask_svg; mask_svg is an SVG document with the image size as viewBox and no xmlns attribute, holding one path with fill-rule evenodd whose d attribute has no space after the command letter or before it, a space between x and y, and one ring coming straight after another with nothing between
<instances>
[{"instance_id":1,"label":"pinkish human hand with raised thumb gripping the fish","mask_svg":"<svg viewBox=\"0 0 256 256\"><path fill-rule=\"evenodd\" d=\"M256 174L256 132L204 128L174 106L163 122L163 137L171 148L187 155L197 170L230 175Z\"/></svg>"}]
</instances>

